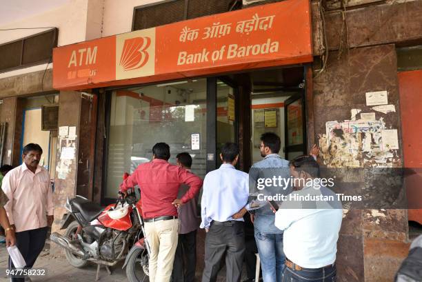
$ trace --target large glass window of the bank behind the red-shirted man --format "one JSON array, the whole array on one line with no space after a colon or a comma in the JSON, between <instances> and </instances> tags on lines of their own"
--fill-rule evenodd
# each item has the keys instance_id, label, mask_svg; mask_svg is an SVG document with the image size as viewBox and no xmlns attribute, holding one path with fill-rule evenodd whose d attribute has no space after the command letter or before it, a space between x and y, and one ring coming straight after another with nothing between
<instances>
[{"instance_id":1,"label":"large glass window of the bank behind the red-shirted man","mask_svg":"<svg viewBox=\"0 0 422 282\"><path fill-rule=\"evenodd\" d=\"M203 178L206 111L206 79L112 92L105 198L116 197L124 172L152 159L158 142L170 145L170 163L189 152L192 172Z\"/></svg>"}]
</instances>

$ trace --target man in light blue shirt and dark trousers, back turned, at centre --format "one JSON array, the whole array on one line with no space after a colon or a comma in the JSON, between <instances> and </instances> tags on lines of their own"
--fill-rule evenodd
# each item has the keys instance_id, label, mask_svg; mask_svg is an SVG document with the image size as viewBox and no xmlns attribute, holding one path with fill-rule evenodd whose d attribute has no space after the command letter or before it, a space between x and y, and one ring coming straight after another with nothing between
<instances>
[{"instance_id":1,"label":"man in light blue shirt and dark trousers, back turned, at centre","mask_svg":"<svg viewBox=\"0 0 422 282\"><path fill-rule=\"evenodd\" d=\"M232 214L248 203L248 174L234 168L239 160L239 146L225 143L220 154L223 164L205 175L201 199L201 228L205 228L205 268L202 282L217 281L224 254L226 281L239 282L245 254L243 218Z\"/></svg>"}]
</instances>

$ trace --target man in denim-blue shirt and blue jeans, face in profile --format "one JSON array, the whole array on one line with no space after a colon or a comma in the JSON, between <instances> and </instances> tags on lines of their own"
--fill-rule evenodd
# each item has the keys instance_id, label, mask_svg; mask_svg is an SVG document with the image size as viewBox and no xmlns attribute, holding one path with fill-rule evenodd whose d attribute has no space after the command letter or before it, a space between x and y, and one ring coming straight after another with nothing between
<instances>
[{"instance_id":1,"label":"man in denim-blue shirt and blue jeans, face in profile","mask_svg":"<svg viewBox=\"0 0 422 282\"><path fill-rule=\"evenodd\" d=\"M281 141L277 134L265 132L261 135L260 150L263 160L252 165L250 169L251 188L257 187L258 179L277 177L275 185L265 185L262 190L258 188L258 193L261 196L276 196L277 194L289 194L291 192L290 185L283 181L290 177L289 162L279 156L280 148ZM280 179L280 182L278 182L278 179ZM243 216L247 210L251 212L254 222L255 240L257 241L259 259L261 259L263 281L281 282L281 273L285 261L283 231L274 225L274 212L270 209L268 201L263 200L262 197L248 203L245 208L234 214L234 218Z\"/></svg>"}]
</instances>

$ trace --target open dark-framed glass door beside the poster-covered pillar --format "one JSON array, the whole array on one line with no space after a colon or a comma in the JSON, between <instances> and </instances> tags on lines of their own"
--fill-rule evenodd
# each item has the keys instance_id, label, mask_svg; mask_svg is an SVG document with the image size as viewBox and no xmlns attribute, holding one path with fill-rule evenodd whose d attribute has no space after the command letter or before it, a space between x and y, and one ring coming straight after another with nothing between
<instances>
[{"instance_id":1,"label":"open dark-framed glass door beside the poster-covered pillar","mask_svg":"<svg viewBox=\"0 0 422 282\"><path fill-rule=\"evenodd\" d=\"M304 91L285 100L285 159L288 161L306 152Z\"/></svg>"}]
</instances>

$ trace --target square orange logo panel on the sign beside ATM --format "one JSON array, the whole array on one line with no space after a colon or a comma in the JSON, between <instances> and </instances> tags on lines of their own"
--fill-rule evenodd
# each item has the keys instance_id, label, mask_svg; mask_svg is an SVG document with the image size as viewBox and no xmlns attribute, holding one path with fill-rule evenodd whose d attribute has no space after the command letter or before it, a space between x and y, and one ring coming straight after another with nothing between
<instances>
[{"instance_id":1,"label":"square orange logo panel on the sign beside ATM","mask_svg":"<svg viewBox=\"0 0 422 282\"><path fill-rule=\"evenodd\" d=\"M116 79L154 74L155 28L117 35Z\"/></svg>"}]
</instances>

